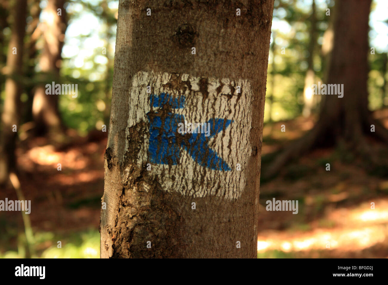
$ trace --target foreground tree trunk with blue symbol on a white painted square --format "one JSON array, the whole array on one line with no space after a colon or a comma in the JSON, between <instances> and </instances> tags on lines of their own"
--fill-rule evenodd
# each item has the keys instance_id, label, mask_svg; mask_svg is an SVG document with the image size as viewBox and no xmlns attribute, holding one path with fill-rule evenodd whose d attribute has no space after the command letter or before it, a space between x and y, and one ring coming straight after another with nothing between
<instances>
[{"instance_id":1,"label":"foreground tree trunk with blue symbol on a white painted square","mask_svg":"<svg viewBox=\"0 0 388 285\"><path fill-rule=\"evenodd\" d=\"M273 1L244 3L119 2L101 257L257 256Z\"/></svg>"}]
</instances>

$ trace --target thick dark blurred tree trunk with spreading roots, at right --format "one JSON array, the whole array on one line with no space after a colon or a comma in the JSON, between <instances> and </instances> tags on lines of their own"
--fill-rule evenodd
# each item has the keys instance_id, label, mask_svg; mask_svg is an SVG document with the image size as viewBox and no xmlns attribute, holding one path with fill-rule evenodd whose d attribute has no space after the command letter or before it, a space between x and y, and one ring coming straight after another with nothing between
<instances>
[{"instance_id":1,"label":"thick dark blurred tree trunk with spreading roots, at right","mask_svg":"<svg viewBox=\"0 0 388 285\"><path fill-rule=\"evenodd\" d=\"M327 84L343 84L343 97L326 95L314 128L279 155L265 173L275 175L286 162L322 144L342 140L351 149L375 160L365 135L388 142L388 131L368 110L368 21L371 0L337 0L334 47ZM371 125L375 132L371 132ZM372 161L376 162L376 161Z\"/></svg>"}]
</instances>

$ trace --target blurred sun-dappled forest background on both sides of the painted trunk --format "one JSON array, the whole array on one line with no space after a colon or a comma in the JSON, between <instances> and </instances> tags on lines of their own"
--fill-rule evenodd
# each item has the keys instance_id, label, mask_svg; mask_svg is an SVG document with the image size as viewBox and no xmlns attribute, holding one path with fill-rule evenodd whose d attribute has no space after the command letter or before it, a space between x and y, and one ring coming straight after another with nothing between
<instances>
[{"instance_id":1,"label":"blurred sun-dappled forest background on both sides of the painted trunk","mask_svg":"<svg viewBox=\"0 0 388 285\"><path fill-rule=\"evenodd\" d=\"M352 27L336 22L345 17L340 0L275 0L258 257L388 257L388 5L374 0L369 14L357 2L343 0L353 5ZM99 257L117 10L110 0L0 0L0 199L23 195L33 207L28 216L0 212L0 257ZM362 93L362 72L340 78L332 63L335 35L345 45L362 16L367 46L346 48L360 58L371 111L357 118L376 119L380 136L322 131L319 143L303 143L335 105L312 94L312 84L347 80ZM77 84L77 97L46 95L52 81ZM329 129L349 128L338 117ZM299 213L265 211L272 198L298 200Z\"/></svg>"}]
</instances>

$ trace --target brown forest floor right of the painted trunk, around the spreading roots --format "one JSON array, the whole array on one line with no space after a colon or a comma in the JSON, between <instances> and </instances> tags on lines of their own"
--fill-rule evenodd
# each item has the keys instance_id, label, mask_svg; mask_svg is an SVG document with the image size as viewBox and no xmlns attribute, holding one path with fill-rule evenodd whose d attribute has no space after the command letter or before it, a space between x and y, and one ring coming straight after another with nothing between
<instances>
[{"instance_id":1,"label":"brown forest floor right of the painted trunk, around the spreading roots","mask_svg":"<svg viewBox=\"0 0 388 285\"><path fill-rule=\"evenodd\" d=\"M388 128L388 110L374 116ZM266 125L262 169L313 124L311 117L300 117ZM386 145L368 142L388 157ZM288 164L276 178L261 181L258 257L388 258L387 169L368 169L362 159L337 146L316 149ZM298 200L298 214L266 211L266 201L273 198Z\"/></svg>"}]
</instances>

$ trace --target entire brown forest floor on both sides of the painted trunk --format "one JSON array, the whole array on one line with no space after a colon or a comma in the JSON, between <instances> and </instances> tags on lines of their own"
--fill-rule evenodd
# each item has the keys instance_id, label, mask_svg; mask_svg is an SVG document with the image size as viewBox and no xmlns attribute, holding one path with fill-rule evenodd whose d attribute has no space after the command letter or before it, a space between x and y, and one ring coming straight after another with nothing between
<instances>
[{"instance_id":1,"label":"entire brown forest floor on both sides of the painted trunk","mask_svg":"<svg viewBox=\"0 0 388 285\"><path fill-rule=\"evenodd\" d=\"M388 110L375 116L388 128ZM313 124L311 117L267 124L262 168ZM105 148L106 138L76 138L62 149L35 138L18 147L21 188L32 205L35 256L99 257ZM17 199L11 187L1 193ZM298 214L266 211L266 201L273 198L298 200ZM386 169L365 169L362 160L338 147L317 149L262 181L259 210L258 257L388 257ZM20 212L1 212L0 233L0 257L26 256Z\"/></svg>"}]
</instances>

